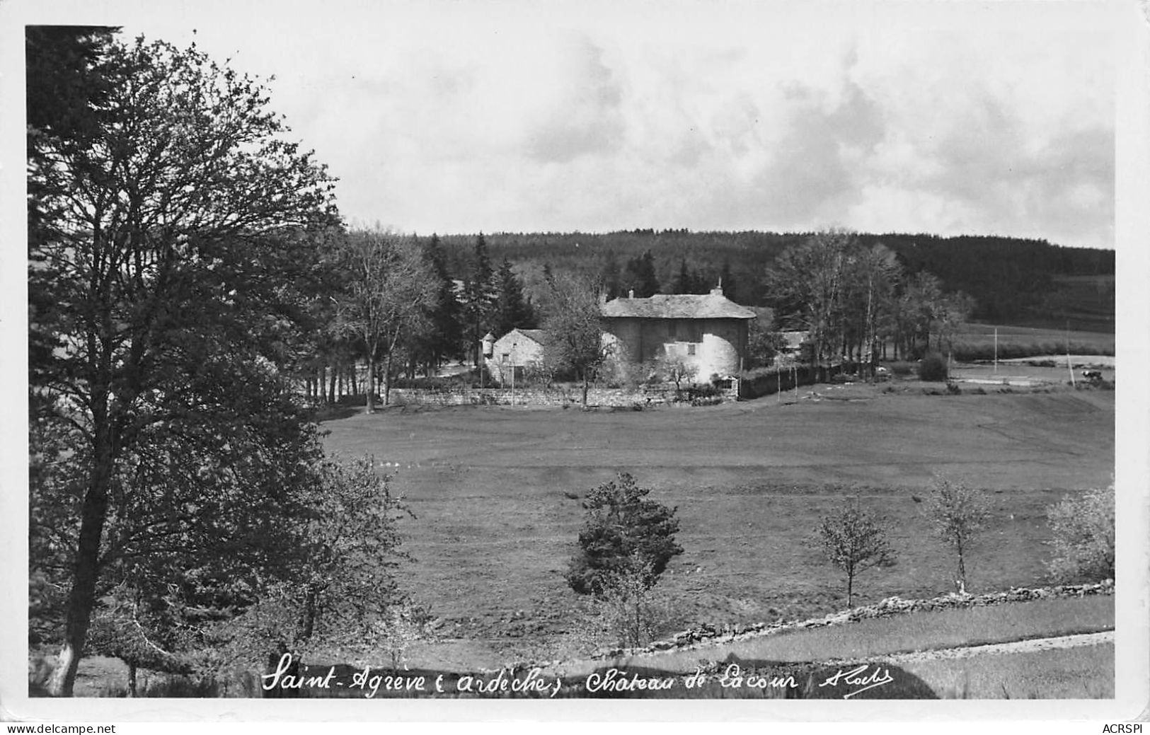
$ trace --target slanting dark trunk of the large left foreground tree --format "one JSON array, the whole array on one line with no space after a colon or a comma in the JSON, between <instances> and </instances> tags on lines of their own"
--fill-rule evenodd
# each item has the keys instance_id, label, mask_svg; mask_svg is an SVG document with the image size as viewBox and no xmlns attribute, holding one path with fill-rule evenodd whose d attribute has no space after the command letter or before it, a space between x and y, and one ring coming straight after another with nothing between
<instances>
[{"instance_id":1,"label":"slanting dark trunk of the large left foreground tree","mask_svg":"<svg viewBox=\"0 0 1150 735\"><path fill-rule=\"evenodd\" d=\"M108 488L112 484L113 439L108 432L108 418L101 411L105 399L95 397L93 415L95 455L84 506L80 512L79 541L76 548L76 566L72 587L68 592L68 612L64 626L64 644L60 649L56 667L48 681L48 694L53 697L72 696L79 659L84 656L87 627L95 606L95 583L100 574L100 539L108 518Z\"/></svg>"}]
</instances>

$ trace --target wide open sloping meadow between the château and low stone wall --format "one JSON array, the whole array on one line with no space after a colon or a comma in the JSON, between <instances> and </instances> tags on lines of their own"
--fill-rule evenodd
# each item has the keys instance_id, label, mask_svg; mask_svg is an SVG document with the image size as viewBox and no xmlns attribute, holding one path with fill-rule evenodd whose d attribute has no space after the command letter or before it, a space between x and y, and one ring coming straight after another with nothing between
<instances>
[{"instance_id":1,"label":"wide open sloping meadow between the ch\u00e2teau and low stone wall","mask_svg":"<svg viewBox=\"0 0 1150 735\"><path fill-rule=\"evenodd\" d=\"M933 472L990 492L994 521L967 565L972 591L1041 583L1045 508L1113 473L1112 391L851 390L843 400L644 412L405 407L324 427L330 450L373 454L396 473L417 516L405 521L416 561L401 574L443 619L442 641L412 651L427 666L577 653L569 634L582 600L562 573L583 512L568 496L615 470L678 507L685 551L660 583L678 628L841 608L842 581L811 534L844 485L891 519L899 554L858 579L859 604L953 589L953 561L914 500Z\"/></svg>"}]
</instances>

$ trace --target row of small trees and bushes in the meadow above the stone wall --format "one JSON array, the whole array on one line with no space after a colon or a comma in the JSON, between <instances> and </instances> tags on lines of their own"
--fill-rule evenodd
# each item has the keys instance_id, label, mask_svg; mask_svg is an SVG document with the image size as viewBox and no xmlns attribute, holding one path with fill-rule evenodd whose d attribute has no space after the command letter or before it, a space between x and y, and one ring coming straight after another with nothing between
<instances>
[{"instance_id":1,"label":"row of small trees and bushes in the meadow above the stone wall","mask_svg":"<svg viewBox=\"0 0 1150 735\"><path fill-rule=\"evenodd\" d=\"M677 508L650 498L629 473L592 489L583 500L585 519L566 580L578 595L595 600L592 623L623 648L651 641L669 611L654 588L668 564L683 553L676 542ZM986 493L963 482L935 475L922 504L936 539L954 554L954 584L966 592L967 560L992 520ZM1048 508L1053 581L1114 579L1114 489L1095 489ZM858 575L897 562L890 525L864 507L858 497L825 515L814 537L846 585L846 606L854 605Z\"/></svg>"}]
</instances>

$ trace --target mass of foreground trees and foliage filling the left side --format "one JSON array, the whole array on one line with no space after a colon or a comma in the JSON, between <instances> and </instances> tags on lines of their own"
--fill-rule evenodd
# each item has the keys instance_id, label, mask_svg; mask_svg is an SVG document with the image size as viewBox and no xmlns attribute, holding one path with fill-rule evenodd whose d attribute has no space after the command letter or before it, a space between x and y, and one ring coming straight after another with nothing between
<instances>
[{"instance_id":1,"label":"mass of foreground trees and foliage filling the left side","mask_svg":"<svg viewBox=\"0 0 1150 735\"><path fill-rule=\"evenodd\" d=\"M66 696L92 650L262 663L377 641L411 602L399 499L369 460L324 457L294 390L320 327L350 334L378 297L324 298L334 273L377 273L371 238L344 232L262 83L114 36L26 31L29 634L60 644ZM391 298L432 305L388 253ZM375 322L388 354L401 311Z\"/></svg>"}]
</instances>

